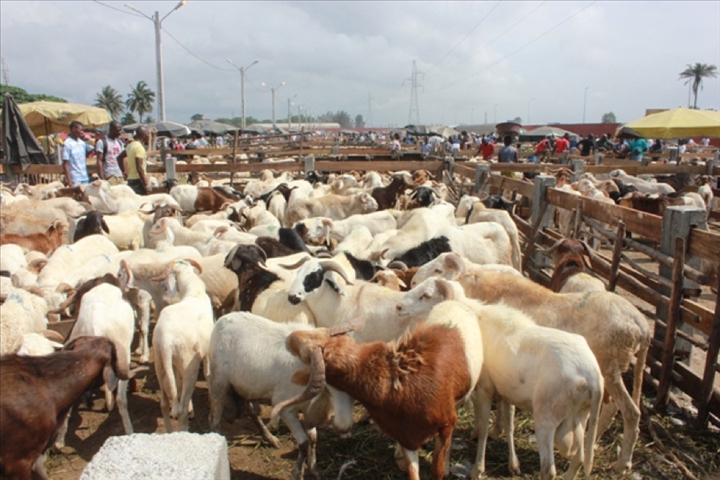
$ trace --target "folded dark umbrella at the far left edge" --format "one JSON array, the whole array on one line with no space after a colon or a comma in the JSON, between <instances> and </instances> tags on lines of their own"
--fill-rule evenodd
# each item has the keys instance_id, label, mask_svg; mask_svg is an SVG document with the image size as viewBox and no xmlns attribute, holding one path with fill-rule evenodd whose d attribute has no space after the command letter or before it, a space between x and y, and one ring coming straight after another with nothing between
<instances>
[{"instance_id":1,"label":"folded dark umbrella at the far left edge","mask_svg":"<svg viewBox=\"0 0 720 480\"><path fill-rule=\"evenodd\" d=\"M2 111L3 163L18 164L23 170L33 163L50 163L12 95L5 94Z\"/></svg>"}]
</instances>

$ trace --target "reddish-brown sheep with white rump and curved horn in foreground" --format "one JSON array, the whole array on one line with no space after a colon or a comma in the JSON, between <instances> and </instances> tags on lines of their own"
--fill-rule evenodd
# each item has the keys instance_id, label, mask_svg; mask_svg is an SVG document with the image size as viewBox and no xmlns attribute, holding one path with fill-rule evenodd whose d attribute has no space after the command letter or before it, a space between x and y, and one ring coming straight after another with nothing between
<instances>
[{"instance_id":1,"label":"reddish-brown sheep with white rump and curved horn in foreground","mask_svg":"<svg viewBox=\"0 0 720 480\"><path fill-rule=\"evenodd\" d=\"M448 303L453 305L438 306L427 324L390 344L360 344L325 328L291 333L287 349L311 366L312 377L305 392L275 405L273 418L325 384L333 386L362 403L378 427L398 441L409 479L420 479L418 450L435 437L432 478L442 479L449 473L455 404L473 391L483 358L474 315Z\"/></svg>"}]
</instances>

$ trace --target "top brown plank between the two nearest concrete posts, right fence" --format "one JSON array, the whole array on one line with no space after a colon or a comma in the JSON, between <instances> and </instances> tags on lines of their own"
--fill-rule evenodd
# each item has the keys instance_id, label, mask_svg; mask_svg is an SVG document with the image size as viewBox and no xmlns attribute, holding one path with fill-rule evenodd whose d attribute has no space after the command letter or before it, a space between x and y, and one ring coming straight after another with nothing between
<instances>
[{"instance_id":1,"label":"top brown plank between the two nearest concrete posts, right fence","mask_svg":"<svg viewBox=\"0 0 720 480\"><path fill-rule=\"evenodd\" d=\"M567 210L574 210L581 198L578 195L572 195L556 188L549 189L547 195L551 205ZM660 242L662 218L657 215L638 212L632 208L620 207L589 198L583 198L583 215L612 226L616 226L622 220L627 231Z\"/></svg>"}]
</instances>

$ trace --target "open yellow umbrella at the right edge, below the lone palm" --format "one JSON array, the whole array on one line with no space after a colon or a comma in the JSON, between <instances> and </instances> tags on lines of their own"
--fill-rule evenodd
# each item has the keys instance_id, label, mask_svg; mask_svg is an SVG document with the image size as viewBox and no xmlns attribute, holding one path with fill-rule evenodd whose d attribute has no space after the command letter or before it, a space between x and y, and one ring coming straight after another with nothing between
<instances>
[{"instance_id":1,"label":"open yellow umbrella at the right edge, below the lone palm","mask_svg":"<svg viewBox=\"0 0 720 480\"><path fill-rule=\"evenodd\" d=\"M625 125L645 138L720 138L720 112L676 108Z\"/></svg>"}]
</instances>

